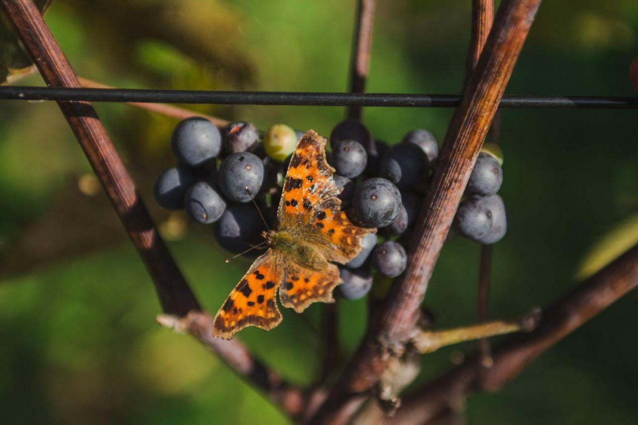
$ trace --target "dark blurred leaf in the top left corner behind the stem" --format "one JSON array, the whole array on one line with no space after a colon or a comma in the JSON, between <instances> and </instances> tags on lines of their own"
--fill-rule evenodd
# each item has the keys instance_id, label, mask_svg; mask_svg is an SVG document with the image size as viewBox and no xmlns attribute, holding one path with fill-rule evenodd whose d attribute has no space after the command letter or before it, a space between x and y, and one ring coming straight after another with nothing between
<instances>
[{"instance_id":1,"label":"dark blurred leaf in the top left corner behind the stem","mask_svg":"<svg viewBox=\"0 0 638 425\"><path fill-rule=\"evenodd\" d=\"M35 0L40 13L44 13L53 0ZM15 33L11 20L0 10L0 84L17 71L31 66L33 61Z\"/></svg>"}]
</instances>

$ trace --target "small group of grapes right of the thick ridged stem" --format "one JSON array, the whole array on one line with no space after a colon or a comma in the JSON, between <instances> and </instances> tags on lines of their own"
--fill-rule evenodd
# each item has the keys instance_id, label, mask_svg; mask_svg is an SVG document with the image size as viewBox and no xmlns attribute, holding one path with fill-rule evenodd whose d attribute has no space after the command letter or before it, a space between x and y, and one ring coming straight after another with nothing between
<instances>
[{"instance_id":1,"label":"small group of grapes right of the thick ridged stem","mask_svg":"<svg viewBox=\"0 0 638 425\"><path fill-rule=\"evenodd\" d=\"M502 158L498 146L484 146L454 217L459 234L482 244L500 241L507 231L505 204L496 194L503 183Z\"/></svg>"}]
</instances>

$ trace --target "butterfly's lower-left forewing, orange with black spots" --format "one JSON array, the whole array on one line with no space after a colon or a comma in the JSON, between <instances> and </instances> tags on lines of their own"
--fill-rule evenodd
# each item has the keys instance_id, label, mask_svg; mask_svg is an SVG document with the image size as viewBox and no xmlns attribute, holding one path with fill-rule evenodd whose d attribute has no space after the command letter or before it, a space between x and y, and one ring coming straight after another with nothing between
<instances>
[{"instance_id":1,"label":"butterfly's lower-left forewing, orange with black spots","mask_svg":"<svg viewBox=\"0 0 638 425\"><path fill-rule=\"evenodd\" d=\"M247 326L270 331L281 322L275 301L284 271L276 251L258 257L219 309L212 325L212 336L230 339Z\"/></svg>"}]
</instances>

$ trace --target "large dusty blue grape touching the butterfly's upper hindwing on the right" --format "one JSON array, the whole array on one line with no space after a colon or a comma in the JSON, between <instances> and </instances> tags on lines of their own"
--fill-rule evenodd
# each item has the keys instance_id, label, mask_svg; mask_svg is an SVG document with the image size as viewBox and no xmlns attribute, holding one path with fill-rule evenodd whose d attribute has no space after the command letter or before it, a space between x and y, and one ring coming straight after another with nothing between
<instances>
[{"instance_id":1,"label":"large dusty blue grape touching the butterfly's upper hindwing on the right","mask_svg":"<svg viewBox=\"0 0 638 425\"><path fill-rule=\"evenodd\" d=\"M355 189L352 205L357 219L366 227L385 227L401 210L401 193L392 182L375 177Z\"/></svg>"}]
</instances>

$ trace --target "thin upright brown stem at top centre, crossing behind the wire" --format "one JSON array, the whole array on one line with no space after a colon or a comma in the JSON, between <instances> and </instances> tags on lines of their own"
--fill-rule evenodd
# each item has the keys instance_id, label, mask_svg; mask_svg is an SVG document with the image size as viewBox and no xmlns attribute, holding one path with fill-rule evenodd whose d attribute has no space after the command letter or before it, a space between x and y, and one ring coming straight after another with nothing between
<instances>
[{"instance_id":1,"label":"thin upright brown stem at top centre, crossing behind the wire","mask_svg":"<svg viewBox=\"0 0 638 425\"><path fill-rule=\"evenodd\" d=\"M370 49L372 48L372 33L375 24L376 0L359 0L357 4L357 18L352 48L352 63L350 64L350 91L363 93L366 90L367 72L370 68ZM360 119L361 107L348 108L348 117Z\"/></svg>"}]
</instances>

